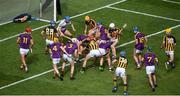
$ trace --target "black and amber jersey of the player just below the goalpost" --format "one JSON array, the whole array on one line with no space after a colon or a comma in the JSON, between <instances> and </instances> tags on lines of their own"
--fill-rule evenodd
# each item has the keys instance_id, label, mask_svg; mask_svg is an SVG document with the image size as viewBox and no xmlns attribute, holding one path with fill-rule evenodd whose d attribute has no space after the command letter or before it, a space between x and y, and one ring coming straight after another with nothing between
<instances>
[{"instance_id":1,"label":"black and amber jersey of the player just below the goalpost","mask_svg":"<svg viewBox=\"0 0 180 96\"><path fill-rule=\"evenodd\" d=\"M57 30L53 26L48 26L44 29L44 32L46 34L46 38L49 40L53 40L54 37L57 37Z\"/></svg>"}]
</instances>

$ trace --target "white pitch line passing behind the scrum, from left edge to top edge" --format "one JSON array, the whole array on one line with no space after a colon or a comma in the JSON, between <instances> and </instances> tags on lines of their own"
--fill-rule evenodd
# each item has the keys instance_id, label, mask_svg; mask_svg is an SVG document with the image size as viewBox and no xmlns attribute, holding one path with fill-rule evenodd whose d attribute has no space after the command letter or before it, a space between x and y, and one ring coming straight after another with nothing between
<instances>
[{"instance_id":1,"label":"white pitch line passing behind the scrum, from left edge to top edge","mask_svg":"<svg viewBox=\"0 0 180 96\"><path fill-rule=\"evenodd\" d=\"M72 18L72 19L73 19L73 18L77 18L77 17L79 17L79 16L82 16L82 15L85 15L85 14L88 14L88 13L92 13L92 12L101 10L101 9L106 8L106 7L108 7L108 6L112 6L112 5L115 5L115 4L123 3L123 2L125 2L125 1L127 1L127 0L120 0L120 1L117 1L117 2L114 2L114 3L111 3L111 4L108 4L108 5L105 5L105 6L96 8L96 9L94 9L94 10L89 10L89 11L86 11L86 12L84 12L84 13L74 15L74 16L72 16L71 18ZM57 21L57 23L58 23L58 22L59 22L59 21ZM41 26L41 27L37 27L37 28L33 29L32 31L39 30L39 29L45 28L45 27L47 27L47 26L49 26L49 24L44 25L44 26ZM20 34L21 34L21 33L20 33ZM13 35L13 36L10 36L10 37L1 39L1 40L0 40L0 43L1 43L1 42L4 42L4 41L6 41L6 40L9 40L9 39L11 39L11 38L17 37L17 36L19 36L20 34L16 34L16 35Z\"/></svg>"}]
</instances>

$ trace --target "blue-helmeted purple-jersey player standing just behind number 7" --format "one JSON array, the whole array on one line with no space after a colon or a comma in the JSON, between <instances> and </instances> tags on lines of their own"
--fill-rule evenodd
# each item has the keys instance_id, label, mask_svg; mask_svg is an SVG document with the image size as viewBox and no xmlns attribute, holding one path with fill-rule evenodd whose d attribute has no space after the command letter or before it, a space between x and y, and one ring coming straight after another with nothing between
<instances>
[{"instance_id":1,"label":"blue-helmeted purple-jersey player standing just behind number 7","mask_svg":"<svg viewBox=\"0 0 180 96\"><path fill-rule=\"evenodd\" d=\"M135 49L134 49L134 60L136 62L136 66L139 69L141 67L141 59L142 59L142 52L143 49L146 45L147 42L147 38L145 37L144 34L142 34L141 32L139 32L138 27L134 28L134 33L135 33Z\"/></svg>"}]
</instances>

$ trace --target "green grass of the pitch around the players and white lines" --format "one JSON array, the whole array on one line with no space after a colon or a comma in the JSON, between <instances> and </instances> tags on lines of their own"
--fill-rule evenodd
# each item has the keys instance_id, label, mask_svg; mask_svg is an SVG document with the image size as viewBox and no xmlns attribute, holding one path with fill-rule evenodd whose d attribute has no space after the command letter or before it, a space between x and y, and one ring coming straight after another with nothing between
<instances>
[{"instance_id":1,"label":"green grass of the pitch around the players and white lines","mask_svg":"<svg viewBox=\"0 0 180 96\"><path fill-rule=\"evenodd\" d=\"M118 1L118 0L115 0ZM113 1L113 2L115 2ZM96 2L95 4L93 2ZM112 3L111 0L63 0L63 15L76 15L88 10L95 9L97 7L104 6L106 4ZM87 6L88 4L88 6ZM91 7L90 7L91 6ZM125 3L114 5L117 8L125 8L134 11L145 12L154 15L165 16L169 18L179 18L178 12L180 12L180 7L177 5L169 4L162 2L161 0L128 0ZM66 10L66 9L67 10ZM165 12L166 11L166 12ZM176 13L176 14L175 14ZM110 22L114 22L117 26L122 26L124 23L127 23L128 26L124 30L124 35L119 41L119 44L126 43L134 39L134 33L132 28L138 26L140 31L146 35L152 34L161 30L164 30L167 27L172 27L180 24L179 22L159 19L155 17L137 15L133 13L126 13L122 11L112 10L105 8L96 12L89 13L92 18L97 21L102 22L105 26L108 26ZM74 36L77 34L83 33L84 27L84 16L80 16L72 20L74 23L77 32L73 33ZM18 34L24 31L26 26L31 26L36 28L47 23L33 21L31 23L23 24L7 24L0 26L0 39ZM71 30L71 29L70 29ZM44 71L52 69L52 62L49 59L49 56L44 54L44 45L45 42L40 36L42 29L33 31L33 39L35 41L35 46L33 48L33 54L28 56L27 64L29 66L29 72L24 73L19 70L19 65L21 64L19 59L19 50L18 45L15 43L16 38L4 41L0 43L0 87L7 84L31 77L33 75L42 73ZM157 57L160 61L160 67L157 68L157 80L158 88L156 92L152 93L148 85L147 76L145 74L145 69L136 70L134 60L132 58L134 44L129 44L118 48L117 53L119 54L120 50L125 50L127 52L127 58L129 65L127 68L128 75L128 92L129 94L149 94L149 95L169 95L169 94L180 94L180 63L179 58L179 44L180 39L178 36L180 33L180 27L173 29L173 35L177 39L177 46L175 52L175 63L177 67L170 71L166 72L164 62L166 56L164 50L160 50L160 44L164 34L159 34L148 39L148 44L152 46L153 51L157 54ZM118 45L119 45L118 44ZM92 59L93 60L93 59ZM115 95L122 94L123 87L120 86L117 93L112 93L112 76L113 73L106 70L100 72L98 70L99 62L96 62L96 67L92 67L93 61L88 62L88 70L85 74L80 74L79 69L82 63L76 64L76 80L69 80L69 67L66 67L66 74L64 81L57 81L52 79L53 73L39 76L37 78L19 83L17 85L5 88L0 90L1 95L18 95L18 94L67 94L67 95ZM105 63L106 64L106 63ZM61 64L60 64L61 65ZM106 64L107 65L107 64ZM120 85L122 81L120 80Z\"/></svg>"}]
</instances>

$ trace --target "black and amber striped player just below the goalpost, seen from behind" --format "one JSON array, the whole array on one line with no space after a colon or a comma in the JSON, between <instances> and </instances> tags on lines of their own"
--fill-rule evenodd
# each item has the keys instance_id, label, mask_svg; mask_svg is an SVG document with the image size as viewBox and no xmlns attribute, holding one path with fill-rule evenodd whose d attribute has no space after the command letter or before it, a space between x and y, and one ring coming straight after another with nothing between
<instances>
[{"instance_id":1,"label":"black and amber striped player just below the goalpost, seen from behind","mask_svg":"<svg viewBox=\"0 0 180 96\"><path fill-rule=\"evenodd\" d=\"M55 21L50 21L50 26L44 28L44 30L41 32L41 35L46 41L45 52L49 53L49 46L53 43L54 37L59 36L55 28Z\"/></svg>"}]
</instances>

